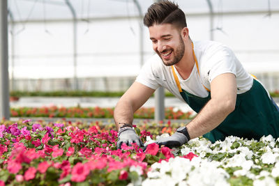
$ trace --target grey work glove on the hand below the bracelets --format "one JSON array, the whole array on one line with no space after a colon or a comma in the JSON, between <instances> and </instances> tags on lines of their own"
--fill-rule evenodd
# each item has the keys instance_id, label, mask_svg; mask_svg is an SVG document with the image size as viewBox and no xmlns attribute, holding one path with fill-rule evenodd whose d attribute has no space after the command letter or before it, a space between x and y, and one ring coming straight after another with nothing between
<instances>
[{"instance_id":1,"label":"grey work glove on the hand below the bracelets","mask_svg":"<svg viewBox=\"0 0 279 186\"><path fill-rule=\"evenodd\" d=\"M140 137L135 133L132 127L125 127L118 132L118 141L116 144L117 149L121 148L122 144L131 146L132 143L136 143L139 147L144 146Z\"/></svg>"}]
</instances>

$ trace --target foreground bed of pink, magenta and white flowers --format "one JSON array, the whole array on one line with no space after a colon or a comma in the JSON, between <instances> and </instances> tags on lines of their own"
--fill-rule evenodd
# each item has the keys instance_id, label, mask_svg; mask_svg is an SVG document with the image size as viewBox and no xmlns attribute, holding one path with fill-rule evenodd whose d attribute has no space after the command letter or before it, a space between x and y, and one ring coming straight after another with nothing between
<instances>
[{"instance_id":1,"label":"foreground bed of pink, magenta and white flowers","mask_svg":"<svg viewBox=\"0 0 279 186\"><path fill-rule=\"evenodd\" d=\"M5 122L0 125L0 185L276 185L279 139L192 139L170 150L154 140L177 123L136 128L148 145L116 149L114 125ZM144 128L152 131L146 132ZM162 134L162 132L169 132Z\"/></svg>"}]
</instances>

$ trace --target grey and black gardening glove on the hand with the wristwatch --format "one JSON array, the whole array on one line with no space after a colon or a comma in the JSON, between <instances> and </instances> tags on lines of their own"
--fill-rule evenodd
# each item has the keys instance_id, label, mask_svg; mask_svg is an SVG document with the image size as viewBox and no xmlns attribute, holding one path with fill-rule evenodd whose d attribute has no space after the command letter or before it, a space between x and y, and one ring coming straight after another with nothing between
<instances>
[{"instance_id":1,"label":"grey and black gardening glove on the hand with the wristwatch","mask_svg":"<svg viewBox=\"0 0 279 186\"><path fill-rule=\"evenodd\" d=\"M168 148L174 148L186 144L190 140L186 127L179 127L174 134L170 137L161 137L156 140L159 146L167 146Z\"/></svg>"}]
</instances>

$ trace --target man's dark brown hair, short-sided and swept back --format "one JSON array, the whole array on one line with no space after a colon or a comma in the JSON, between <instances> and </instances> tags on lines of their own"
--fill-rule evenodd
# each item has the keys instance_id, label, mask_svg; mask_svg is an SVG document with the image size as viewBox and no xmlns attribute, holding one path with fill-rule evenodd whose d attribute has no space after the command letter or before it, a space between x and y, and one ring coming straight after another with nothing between
<instances>
[{"instance_id":1,"label":"man's dark brown hair, short-sided and swept back","mask_svg":"<svg viewBox=\"0 0 279 186\"><path fill-rule=\"evenodd\" d=\"M144 25L149 27L153 24L175 24L182 29L187 27L186 17L179 6L171 1L161 1L149 6L144 15Z\"/></svg>"}]
</instances>

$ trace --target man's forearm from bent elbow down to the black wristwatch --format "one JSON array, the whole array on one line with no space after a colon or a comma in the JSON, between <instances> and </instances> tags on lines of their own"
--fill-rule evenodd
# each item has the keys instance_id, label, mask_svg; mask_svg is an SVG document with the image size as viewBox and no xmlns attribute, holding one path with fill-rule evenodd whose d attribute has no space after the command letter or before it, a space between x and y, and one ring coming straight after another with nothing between
<instances>
[{"instance_id":1,"label":"man's forearm from bent elbow down to the black wristwatch","mask_svg":"<svg viewBox=\"0 0 279 186\"><path fill-rule=\"evenodd\" d=\"M234 111L233 103L209 100L193 121L187 125L190 139L210 132L220 125L232 111Z\"/></svg>"}]
</instances>

